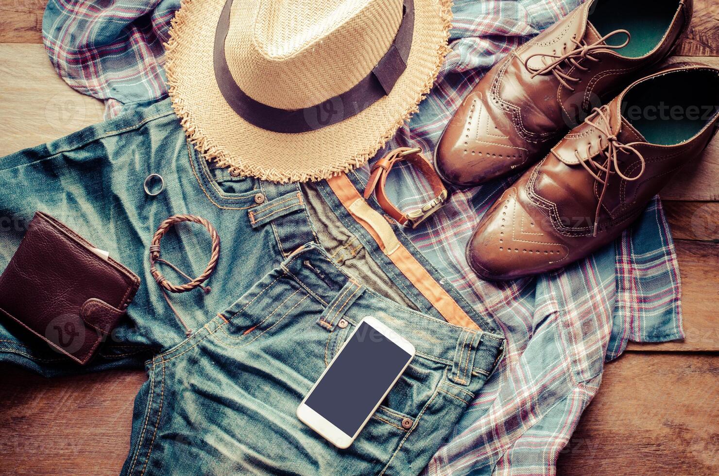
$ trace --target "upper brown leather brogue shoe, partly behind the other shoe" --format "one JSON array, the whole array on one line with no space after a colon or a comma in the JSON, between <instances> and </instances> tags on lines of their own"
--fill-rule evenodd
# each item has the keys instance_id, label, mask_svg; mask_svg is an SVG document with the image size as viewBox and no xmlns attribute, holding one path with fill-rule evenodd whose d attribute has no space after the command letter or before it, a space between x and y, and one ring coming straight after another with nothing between
<instances>
[{"instance_id":1,"label":"upper brown leather brogue shoe, partly behind the other shoe","mask_svg":"<svg viewBox=\"0 0 719 476\"><path fill-rule=\"evenodd\" d=\"M457 186L528 168L666 58L691 17L692 0L587 1L477 83L439 140L435 168Z\"/></svg>"}]
</instances>

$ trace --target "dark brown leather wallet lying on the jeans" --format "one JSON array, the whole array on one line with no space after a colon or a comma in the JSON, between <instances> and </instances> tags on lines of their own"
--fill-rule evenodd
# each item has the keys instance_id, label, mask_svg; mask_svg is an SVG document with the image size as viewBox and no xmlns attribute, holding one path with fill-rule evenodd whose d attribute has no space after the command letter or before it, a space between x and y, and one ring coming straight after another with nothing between
<instances>
[{"instance_id":1,"label":"dark brown leather wallet lying on the jeans","mask_svg":"<svg viewBox=\"0 0 719 476\"><path fill-rule=\"evenodd\" d=\"M85 365L124 316L140 280L38 211L0 275L0 315Z\"/></svg>"}]
</instances>

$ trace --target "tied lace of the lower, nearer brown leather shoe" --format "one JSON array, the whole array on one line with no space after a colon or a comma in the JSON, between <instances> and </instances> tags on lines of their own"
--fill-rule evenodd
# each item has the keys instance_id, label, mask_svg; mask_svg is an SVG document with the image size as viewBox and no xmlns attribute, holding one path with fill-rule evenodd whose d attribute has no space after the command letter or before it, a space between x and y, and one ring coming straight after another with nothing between
<instances>
[{"instance_id":1,"label":"tied lace of the lower, nearer brown leather shoe","mask_svg":"<svg viewBox=\"0 0 719 476\"><path fill-rule=\"evenodd\" d=\"M592 157L591 142L587 145L587 150L584 157L580 155L579 150L574 150L574 156L577 157L577 160L579 160L580 164L582 164L582 167L584 167L587 172L590 173L590 175L592 175L595 180L597 180L597 182L602 184L602 193L600 193L599 201L597 203L597 211L595 212L594 216L595 237L597 236L597 228L599 226L599 212L602 209L604 194L607 191L607 185L609 183L610 175L616 173L623 180L631 182L641 177L641 175L644 173L644 168L646 166L644 156L641 155L641 152L639 152L638 150L636 150L636 148L633 147L634 145L641 144L641 142L631 142L629 144L623 144L622 142L619 142L619 139L617 139L617 136L615 134L612 134L608 119L609 112L606 110L606 108L607 106L602 106L601 108L595 107L594 109L592 109L592 113L596 112L597 116L599 116L603 120L602 124L592 122L590 120L591 116L585 119L585 123L597 129L597 131L599 131L600 134L604 136L603 138L605 139L607 144L602 147L602 140L600 138L600 150L599 154L596 157ZM641 168L639 169L639 172L633 177L628 177L627 175L624 175L620 170L618 159L618 152L620 151L625 153L633 153L634 155L636 155L636 157L638 157ZM599 157L602 157L603 161L597 160L599 159ZM604 173L604 178L600 177L600 173Z\"/></svg>"}]
</instances>

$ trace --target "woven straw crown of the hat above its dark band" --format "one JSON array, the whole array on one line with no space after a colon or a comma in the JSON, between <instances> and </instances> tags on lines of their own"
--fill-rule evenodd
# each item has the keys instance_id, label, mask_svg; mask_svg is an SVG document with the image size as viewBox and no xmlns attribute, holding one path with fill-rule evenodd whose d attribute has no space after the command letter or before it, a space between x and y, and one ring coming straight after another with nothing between
<instances>
[{"instance_id":1,"label":"woven straw crown of the hat above its dark band","mask_svg":"<svg viewBox=\"0 0 719 476\"><path fill-rule=\"evenodd\" d=\"M227 65L237 86L262 104L290 110L320 104L375 68L397 34L402 5L401 0L263 0L251 6L235 0L225 40Z\"/></svg>"}]
</instances>

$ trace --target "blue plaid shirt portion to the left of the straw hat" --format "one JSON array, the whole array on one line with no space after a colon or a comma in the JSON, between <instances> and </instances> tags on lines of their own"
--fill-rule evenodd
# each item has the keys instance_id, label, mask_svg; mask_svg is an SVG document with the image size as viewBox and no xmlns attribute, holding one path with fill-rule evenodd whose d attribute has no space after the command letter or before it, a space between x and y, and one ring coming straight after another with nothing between
<instances>
[{"instance_id":1,"label":"blue plaid shirt portion to the left of the straw hat","mask_svg":"<svg viewBox=\"0 0 719 476\"><path fill-rule=\"evenodd\" d=\"M105 102L105 119L167 96L165 47L180 0L50 0L42 40L75 91Z\"/></svg>"}]
</instances>

